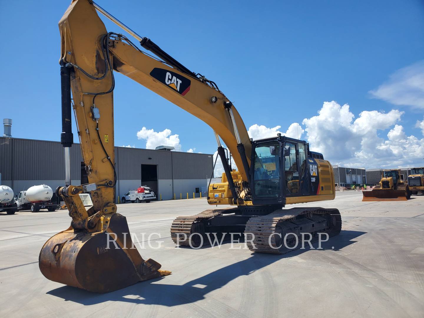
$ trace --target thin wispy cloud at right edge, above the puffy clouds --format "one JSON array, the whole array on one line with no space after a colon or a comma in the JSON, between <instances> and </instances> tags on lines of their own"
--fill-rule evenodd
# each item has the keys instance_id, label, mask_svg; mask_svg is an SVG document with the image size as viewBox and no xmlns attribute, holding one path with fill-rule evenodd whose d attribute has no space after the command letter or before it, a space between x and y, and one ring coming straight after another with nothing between
<instances>
[{"instance_id":1,"label":"thin wispy cloud at right edge, above the puffy clouds","mask_svg":"<svg viewBox=\"0 0 424 318\"><path fill-rule=\"evenodd\" d=\"M424 108L424 61L397 70L369 93L394 105Z\"/></svg>"}]
</instances>

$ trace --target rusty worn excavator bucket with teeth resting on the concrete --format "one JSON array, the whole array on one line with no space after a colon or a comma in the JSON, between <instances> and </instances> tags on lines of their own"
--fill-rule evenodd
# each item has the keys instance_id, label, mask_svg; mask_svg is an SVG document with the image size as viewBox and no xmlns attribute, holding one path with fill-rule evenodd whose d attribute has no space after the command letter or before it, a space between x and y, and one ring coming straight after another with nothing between
<instances>
[{"instance_id":1,"label":"rusty worn excavator bucket with teeth resting on the concrete","mask_svg":"<svg viewBox=\"0 0 424 318\"><path fill-rule=\"evenodd\" d=\"M110 233L109 248L106 233ZM112 242L114 234L117 248ZM122 248L123 242L127 249ZM158 262L142 259L131 246L126 218L116 213L107 231L90 234L70 228L51 237L40 251L39 268L47 279L97 293L170 273L160 271Z\"/></svg>"}]
</instances>

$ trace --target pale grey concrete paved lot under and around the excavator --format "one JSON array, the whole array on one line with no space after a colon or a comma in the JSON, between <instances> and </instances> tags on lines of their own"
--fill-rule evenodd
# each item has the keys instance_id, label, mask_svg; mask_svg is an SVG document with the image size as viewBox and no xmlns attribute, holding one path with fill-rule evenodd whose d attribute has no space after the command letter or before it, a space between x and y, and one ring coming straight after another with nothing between
<instances>
[{"instance_id":1,"label":"pale grey concrete paved lot under and around the excavator","mask_svg":"<svg viewBox=\"0 0 424 318\"><path fill-rule=\"evenodd\" d=\"M424 195L361 199L360 192L338 192L334 201L304 204L340 209L342 232L324 250L282 256L230 244L176 248L170 223L210 208L205 199L120 204L132 233L161 234L160 249L139 251L173 274L106 294L39 272L42 245L70 224L66 211L3 212L0 317L423 317Z\"/></svg>"}]
</instances>

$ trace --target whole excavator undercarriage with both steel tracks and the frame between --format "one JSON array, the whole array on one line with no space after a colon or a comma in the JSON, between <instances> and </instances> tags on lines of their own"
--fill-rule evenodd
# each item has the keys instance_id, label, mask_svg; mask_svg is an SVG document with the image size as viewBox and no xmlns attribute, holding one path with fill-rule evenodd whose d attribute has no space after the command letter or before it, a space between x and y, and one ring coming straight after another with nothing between
<instances>
[{"instance_id":1,"label":"whole excavator undercarriage with both steel tracks and the frame between","mask_svg":"<svg viewBox=\"0 0 424 318\"><path fill-rule=\"evenodd\" d=\"M332 237L340 230L338 209L276 209L265 215L244 215L240 208L227 208L176 218L171 226L171 238L177 245L199 248L215 240L238 240L244 234L251 251L285 254L300 248L299 242L308 239L307 234L314 243L319 233Z\"/></svg>"}]
</instances>

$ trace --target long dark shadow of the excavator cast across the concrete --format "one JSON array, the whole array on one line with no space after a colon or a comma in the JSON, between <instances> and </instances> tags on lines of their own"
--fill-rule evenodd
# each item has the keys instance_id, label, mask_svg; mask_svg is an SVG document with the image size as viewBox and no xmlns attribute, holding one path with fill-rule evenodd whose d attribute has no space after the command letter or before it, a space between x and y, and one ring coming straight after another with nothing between
<instances>
[{"instance_id":1,"label":"long dark shadow of the excavator cast across the concrete","mask_svg":"<svg viewBox=\"0 0 424 318\"><path fill-rule=\"evenodd\" d=\"M366 232L342 230L338 236L330 238L328 242L323 242L321 247L323 250L328 250L333 249L332 247L334 246L334 250L340 250L352 243L355 243L356 240L354 239L365 233ZM318 243L313 244L313 247L317 248ZM65 301L73 301L86 306L100 304L105 301L124 301L134 304L156 304L167 307L178 306L181 304L192 304L206 298L208 293L225 286L240 276L251 275L255 271L265 268L274 262L302 254L308 249L299 249L284 255L254 252L251 253L250 257L247 259L219 268L216 271L193 279L184 285L163 284L162 279L165 279L164 282L166 282L167 278L162 277L146 282L140 282L111 293L91 293L76 287L63 286L50 290L47 294L63 298ZM242 249L235 250L234 253L249 252ZM170 269L172 270L172 268ZM184 275L186 274L187 273L184 273ZM178 275L178 272L173 273L173 275ZM161 282L158 283L159 281ZM203 310L200 306L198 309L201 311Z\"/></svg>"}]
</instances>

